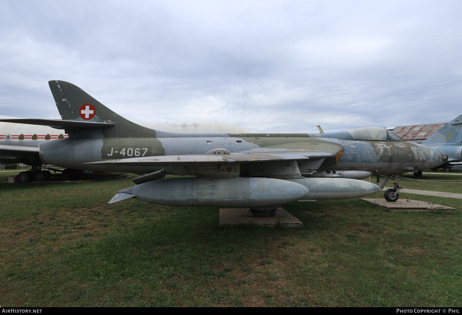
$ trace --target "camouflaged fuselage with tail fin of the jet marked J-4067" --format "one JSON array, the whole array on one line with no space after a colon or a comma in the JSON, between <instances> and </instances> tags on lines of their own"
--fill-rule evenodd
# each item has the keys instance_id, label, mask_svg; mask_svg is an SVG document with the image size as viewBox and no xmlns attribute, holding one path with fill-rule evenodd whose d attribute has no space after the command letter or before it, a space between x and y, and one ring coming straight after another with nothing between
<instances>
[{"instance_id":1,"label":"camouflaged fuselage with tail fin of the jet marked J-4067","mask_svg":"<svg viewBox=\"0 0 462 315\"><path fill-rule=\"evenodd\" d=\"M69 137L39 143L40 161L36 158L37 152L30 155L38 165L42 162L73 169L134 173L150 173L162 168L165 173L174 174L178 173L174 166L87 163L148 156L203 155L214 149L226 149L230 153L313 150L328 152L325 155L328 157L310 158L313 163L307 163L308 158L303 158L299 166L305 171L354 170L380 175L424 170L447 160L447 156L436 149L403 141L377 127L320 134L177 134L155 131L123 118L72 83L52 80L49 86L63 120L47 120L43 124L64 126ZM395 141L388 141L390 139ZM7 153L7 149L3 151ZM22 154L20 149L17 151L15 154ZM265 163L265 160L261 162ZM280 162L284 164L284 159Z\"/></svg>"}]
</instances>

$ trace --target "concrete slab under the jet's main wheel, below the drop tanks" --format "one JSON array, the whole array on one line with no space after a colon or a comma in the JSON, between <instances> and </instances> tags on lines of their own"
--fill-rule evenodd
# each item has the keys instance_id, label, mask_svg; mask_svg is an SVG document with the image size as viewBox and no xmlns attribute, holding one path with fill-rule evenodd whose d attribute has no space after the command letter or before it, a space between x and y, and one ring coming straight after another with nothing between
<instances>
[{"instance_id":1,"label":"concrete slab under the jet's main wheel, below the drop tanks","mask_svg":"<svg viewBox=\"0 0 462 315\"><path fill-rule=\"evenodd\" d=\"M288 213L283 208L278 208L274 217L255 217L250 208L222 208L220 209L220 226L232 226L238 224L256 224L264 226L283 226L297 227L302 226L302 222Z\"/></svg>"}]
</instances>

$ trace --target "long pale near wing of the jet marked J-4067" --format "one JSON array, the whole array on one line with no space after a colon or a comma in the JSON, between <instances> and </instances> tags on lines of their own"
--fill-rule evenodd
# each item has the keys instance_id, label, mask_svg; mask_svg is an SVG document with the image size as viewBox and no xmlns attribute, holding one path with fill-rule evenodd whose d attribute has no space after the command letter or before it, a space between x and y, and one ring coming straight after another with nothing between
<instances>
[{"instance_id":1,"label":"long pale near wing of the jet marked J-4067","mask_svg":"<svg viewBox=\"0 0 462 315\"><path fill-rule=\"evenodd\" d=\"M269 152L230 153L223 155L198 154L145 156L120 160L106 160L86 164L105 164L118 166L206 166L225 163L271 163L296 160L318 160L333 156L334 154L327 151L286 150Z\"/></svg>"}]
</instances>

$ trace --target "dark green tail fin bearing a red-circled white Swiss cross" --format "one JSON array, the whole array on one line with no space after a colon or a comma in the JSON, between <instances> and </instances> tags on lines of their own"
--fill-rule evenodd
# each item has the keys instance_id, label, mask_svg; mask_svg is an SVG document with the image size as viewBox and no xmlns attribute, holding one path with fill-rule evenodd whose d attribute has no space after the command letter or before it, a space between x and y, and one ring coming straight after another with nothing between
<instances>
[{"instance_id":1,"label":"dark green tail fin bearing a red-circled white Swiss cross","mask_svg":"<svg viewBox=\"0 0 462 315\"><path fill-rule=\"evenodd\" d=\"M132 123L114 113L72 83L53 80L48 84L62 119L116 123L116 126L104 131L111 137L156 137L155 130Z\"/></svg>"}]
</instances>

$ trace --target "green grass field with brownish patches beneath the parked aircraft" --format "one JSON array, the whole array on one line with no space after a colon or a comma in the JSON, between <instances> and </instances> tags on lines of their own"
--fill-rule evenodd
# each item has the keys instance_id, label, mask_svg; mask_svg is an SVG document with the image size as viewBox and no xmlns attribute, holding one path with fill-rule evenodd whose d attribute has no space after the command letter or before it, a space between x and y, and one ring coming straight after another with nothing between
<instances>
[{"instance_id":1,"label":"green grass field with brownish patches beneath the parked aircraft","mask_svg":"<svg viewBox=\"0 0 462 315\"><path fill-rule=\"evenodd\" d=\"M107 204L131 185L0 183L0 305L462 306L462 199L294 202L303 228L220 227L218 208Z\"/></svg>"}]
</instances>

